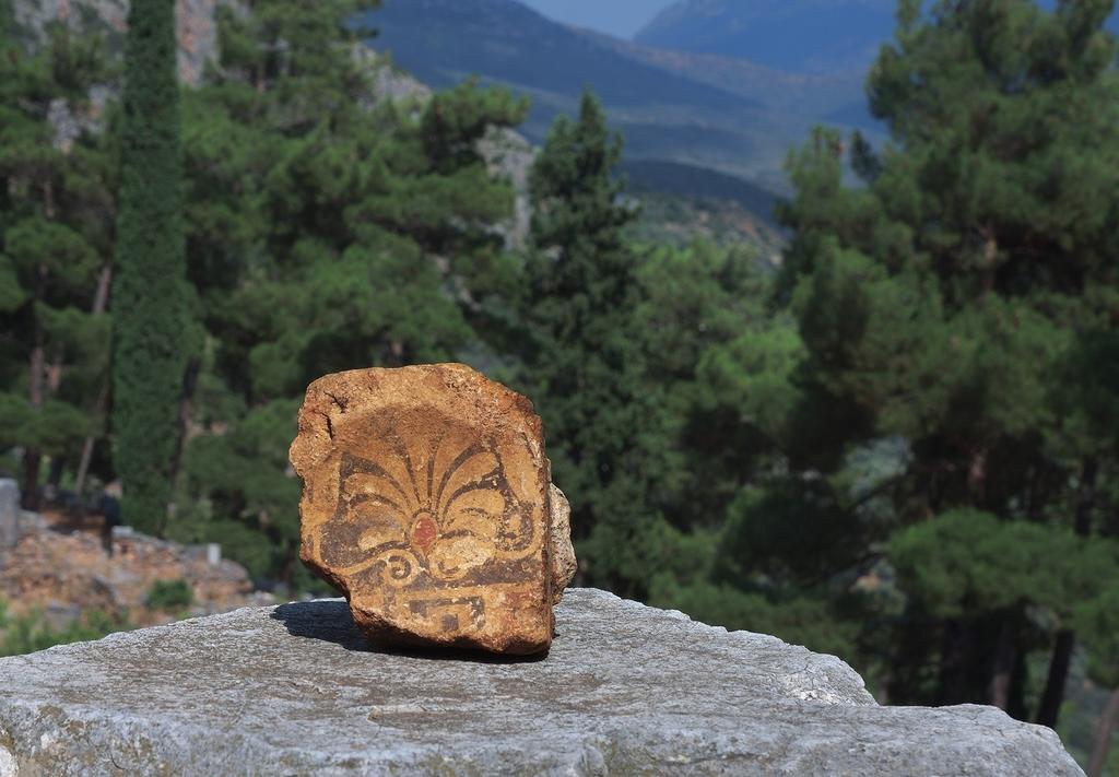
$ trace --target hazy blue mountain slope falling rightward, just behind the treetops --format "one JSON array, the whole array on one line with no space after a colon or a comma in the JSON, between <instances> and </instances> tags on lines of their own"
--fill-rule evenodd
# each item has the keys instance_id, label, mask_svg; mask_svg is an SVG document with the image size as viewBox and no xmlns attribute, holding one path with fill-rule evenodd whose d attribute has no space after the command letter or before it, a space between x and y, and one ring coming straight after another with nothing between
<instances>
[{"instance_id":1,"label":"hazy blue mountain slope falling rightward, just behind the treetops","mask_svg":"<svg viewBox=\"0 0 1119 777\"><path fill-rule=\"evenodd\" d=\"M718 170L783 190L789 148L812 124L857 105L861 87L747 62L657 52L553 22L514 0L385 0L370 41L434 86L477 74L528 95L524 128L540 142L593 86L626 134L627 159Z\"/></svg>"}]
</instances>

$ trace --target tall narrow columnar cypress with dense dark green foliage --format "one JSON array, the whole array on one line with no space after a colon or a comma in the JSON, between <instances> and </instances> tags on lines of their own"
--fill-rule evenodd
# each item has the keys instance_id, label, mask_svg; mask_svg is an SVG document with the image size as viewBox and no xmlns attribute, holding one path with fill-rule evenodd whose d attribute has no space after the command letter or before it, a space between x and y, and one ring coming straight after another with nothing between
<instances>
[{"instance_id":1,"label":"tall narrow columnar cypress with dense dark green foliage","mask_svg":"<svg viewBox=\"0 0 1119 777\"><path fill-rule=\"evenodd\" d=\"M125 47L113 287L114 458L122 514L159 533L171 496L186 363L173 0L133 0Z\"/></svg>"}]
</instances>

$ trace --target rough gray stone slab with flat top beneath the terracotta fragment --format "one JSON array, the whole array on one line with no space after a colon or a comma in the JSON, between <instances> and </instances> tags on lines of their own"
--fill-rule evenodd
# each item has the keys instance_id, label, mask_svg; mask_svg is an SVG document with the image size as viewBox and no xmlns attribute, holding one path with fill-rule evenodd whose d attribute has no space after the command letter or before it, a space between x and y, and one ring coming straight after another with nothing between
<instances>
[{"instance_id":1,"label":"rough gray stone slab with flat top beneath the terracotta fragment","mask_svg":"<svg viewBox=\"0 0 1119 777\"><path fill-rule=\"evenodd\" d=\"M0 777L1079 775L985 706L883 708L833 656L590 589L542 659L370 650L345 602L0 659Z\"/></svg>"}]
</instances>

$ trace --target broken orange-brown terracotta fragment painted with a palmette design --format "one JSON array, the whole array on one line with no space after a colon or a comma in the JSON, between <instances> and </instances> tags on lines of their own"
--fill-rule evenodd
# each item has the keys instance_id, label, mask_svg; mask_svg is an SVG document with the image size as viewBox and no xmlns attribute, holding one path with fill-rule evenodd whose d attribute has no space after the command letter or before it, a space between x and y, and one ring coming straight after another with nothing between
<instances>
[{"instance_id":1,"label":"broken orange-brown terracotta fragment painted with a palmette design","mask_svg":"<svg viewBox=\"0 0 1119 777\"><path fill-rule=\"evenodd\" d=\"M291 461L303 562L372 642L548 649L575 559L527 399L461 364L327 375Z\"/></svg>"}]
</instances>

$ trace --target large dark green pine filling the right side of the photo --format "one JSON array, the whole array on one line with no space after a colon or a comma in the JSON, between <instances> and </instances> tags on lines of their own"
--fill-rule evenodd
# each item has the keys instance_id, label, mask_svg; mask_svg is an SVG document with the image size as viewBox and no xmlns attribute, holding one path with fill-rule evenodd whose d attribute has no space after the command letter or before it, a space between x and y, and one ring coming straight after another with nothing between
<instances>
[{"instance_id":1,"label":"large dark green pine filling the right side of the photo","mask_svg":"<svg viewBox=\"0 0 1119 777\"><path fill-rule=\"evenodd\" d=\"M1054 631L1119 575L1076 574L1081 545L1104 542L1097 486L1117 459L1113 425L1085 423L1107 413L1070 381L1104 368L1076 352L1116 320L1110 7L903 2L868 84L892 143L852 144L865 186L844 185L835 132L790 160L780 290L807 348L797 423L821 433L789 452L856 534L831 573L896 575L903 609L883 600L891 627L867 639L893 701L1031 717L1026 657L1052 638L1037 719L1053 724L1069 646ZM853 481L891 446L891 466Z\"/></svg>"}]
</instances>

